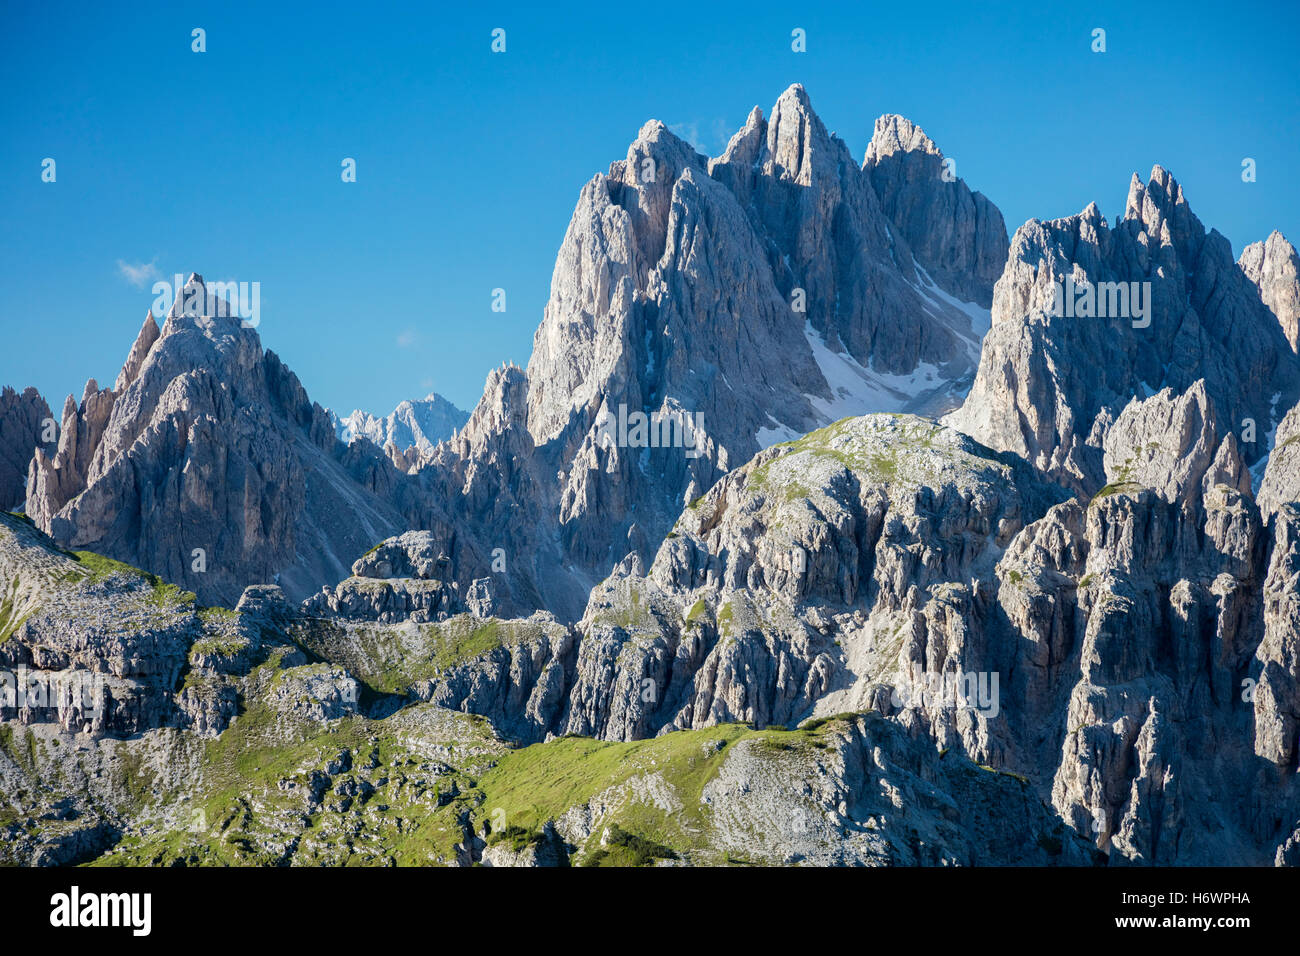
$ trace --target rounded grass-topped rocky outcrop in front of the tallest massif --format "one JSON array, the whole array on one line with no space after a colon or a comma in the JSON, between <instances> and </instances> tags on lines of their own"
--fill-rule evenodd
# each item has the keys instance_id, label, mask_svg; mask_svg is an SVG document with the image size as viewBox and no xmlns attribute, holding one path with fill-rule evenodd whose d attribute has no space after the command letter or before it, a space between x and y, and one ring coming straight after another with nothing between
<instances>
[{"instance_id":1,"label":"rounded grass-topped rocky outcrop in front of the tallest massif","mask_svg":"<svg viewBox=\"0 0 1300 956\"><path fill-rule=\"evenodd\" d=\"M593 592L564 731L890 710L894 685L907 697L942 674L949 652L931 640L992 600L979 579L1060 497L1023 463L910 416L762 453L682 512L647 576L624 567ZM940 745L993 752L987 715L942 723Z\"/></svg>"}]
</instances>

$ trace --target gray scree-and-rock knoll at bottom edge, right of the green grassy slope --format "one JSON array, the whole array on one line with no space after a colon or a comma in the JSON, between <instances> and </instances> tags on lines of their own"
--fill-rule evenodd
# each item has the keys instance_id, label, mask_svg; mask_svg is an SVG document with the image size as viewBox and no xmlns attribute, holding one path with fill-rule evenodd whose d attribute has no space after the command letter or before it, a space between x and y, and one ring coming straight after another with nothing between
<instances>
[{"instance_id":1,"label":"gray scree-and-rock knoll at bottom edge, right of the green grassy slope","mask_svg":"<svg viewBox=\"0 0 1300 956\"><path fill-rule=\"evenodd\" d=\"M845 721L822 741L815 760L790 747L780 773L760 743L737 744L703 793L714 844L818 866L1087 866L1100 857L1014 775L940 754L892 721Z\"/></svg>"}]
</instances>

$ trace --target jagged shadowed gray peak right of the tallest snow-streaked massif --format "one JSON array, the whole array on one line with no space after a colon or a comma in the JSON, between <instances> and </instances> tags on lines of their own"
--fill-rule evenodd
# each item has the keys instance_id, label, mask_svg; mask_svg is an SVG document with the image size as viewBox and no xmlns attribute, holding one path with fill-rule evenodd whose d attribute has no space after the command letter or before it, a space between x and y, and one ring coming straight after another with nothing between
<instances>
[{"instance_id":1,"label":"jagged shadowed gray peak right of the tallest snow-streaked massif","mask_svg":"<svg viewBox=\"0 0 1300 956\"><path fill-rule=\"evenodd\" d=\"M1227 241L1156 166L1145 185L1134 176L1114 229L1093 204L1017 230L975 384L946 420L1091 496L1119 411L1197 381L1219 434L1256 436L1240 447L1253 464L1278 402L1295 402L1300 364Z\"/></svg>"}]
</instances>

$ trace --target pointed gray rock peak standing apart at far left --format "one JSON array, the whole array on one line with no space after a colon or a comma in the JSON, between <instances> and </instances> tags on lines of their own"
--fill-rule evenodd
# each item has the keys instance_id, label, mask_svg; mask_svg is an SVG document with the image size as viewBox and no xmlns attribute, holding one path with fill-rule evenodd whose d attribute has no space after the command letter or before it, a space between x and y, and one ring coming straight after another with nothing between
<instances>
[{"instance_id":1,"label":"pointed gray rock peak standing apart at far left","mask_svg":"<svg viewBox=\"0 0 1300 956\"><path fill-rule=\"evenodd\" d=\"M373 446L344 453L252 329L185 315L182 300L161 330L146 317L114 388L69 397L57 451L31 464L31 518L207 602L273 581L306 597L406 524L390 503L400 476Z\"/></svg>"}]
</instances>

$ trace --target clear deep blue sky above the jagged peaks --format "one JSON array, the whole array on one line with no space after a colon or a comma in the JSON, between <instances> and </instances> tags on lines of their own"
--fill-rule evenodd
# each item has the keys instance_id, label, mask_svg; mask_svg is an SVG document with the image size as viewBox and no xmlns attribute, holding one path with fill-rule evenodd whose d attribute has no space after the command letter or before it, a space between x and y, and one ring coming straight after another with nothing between
<instances>
[{"instance_id":1,"label":"clear deep blue sky above the jagged peaks","mask_svg":"<svg viewBox=\"0 0 1300 956\"><path fill-rule=\"evenodd\" d=\"M1160 163L1234 251L1297 242L1297 5L1217 8L8 4L0 384L56 410L110 384L153 300L121 264L153 264L260 282L263 341L321 405L469 408L526 363L581 185L649 118L716 153L793 82L858 159L879 114L920 124L1009 232L1114 221Z\"/></svg>"}]
</instances>

